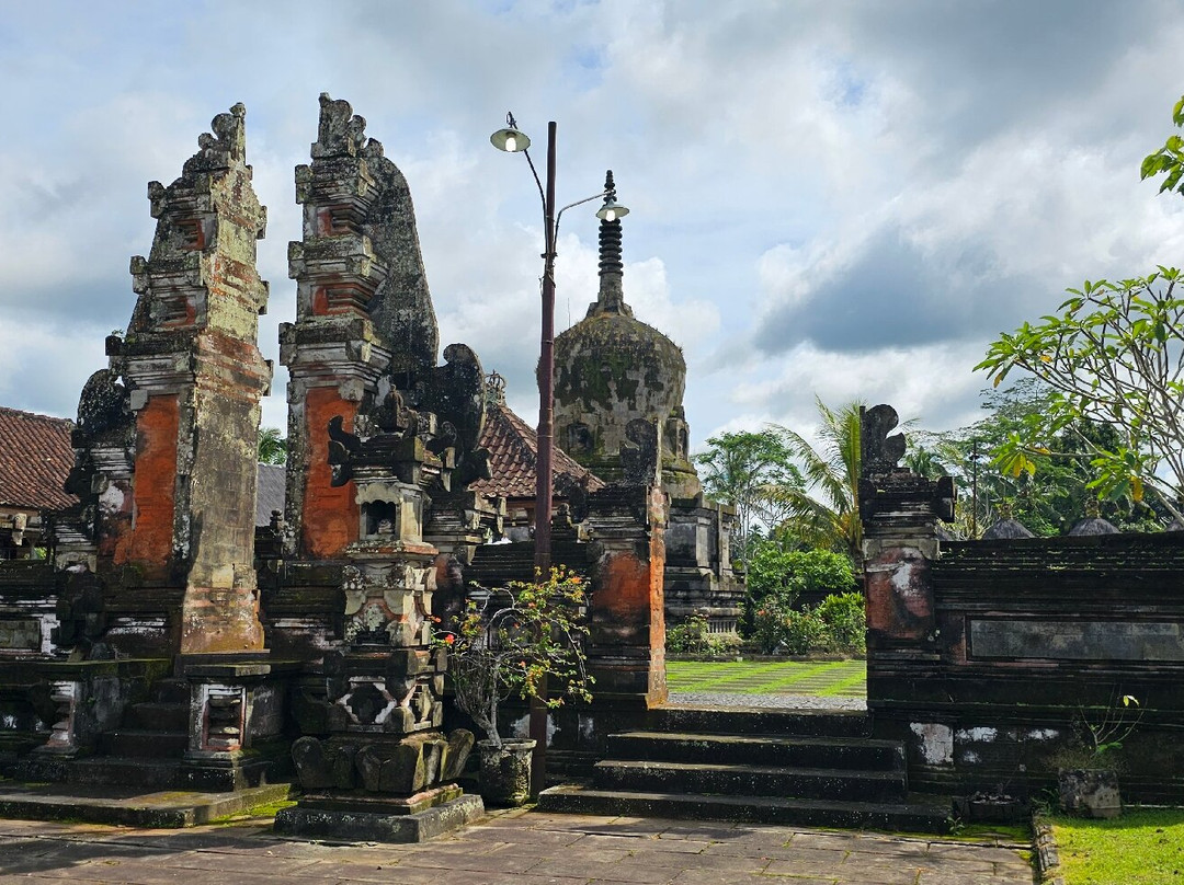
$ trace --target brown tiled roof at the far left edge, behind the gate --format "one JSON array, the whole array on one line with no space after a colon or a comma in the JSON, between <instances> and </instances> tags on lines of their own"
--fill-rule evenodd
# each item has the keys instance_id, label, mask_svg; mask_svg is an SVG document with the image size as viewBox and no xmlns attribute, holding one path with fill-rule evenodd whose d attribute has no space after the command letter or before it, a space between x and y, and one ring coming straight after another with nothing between
<instances>
[{"instance_id":1,"label":"brown tiled roof at the far left edge, behind the gate","mask_svg":"<svg viewBox=\"0 0 1184 885\"><path fill-rule=\"evenodd\" d=\"M62 487L73 466L72 427L0 406L0 506L59 510L77 500Z\"/></svg>"}]
</instances>

